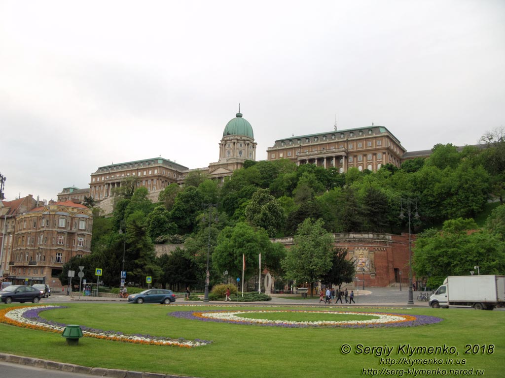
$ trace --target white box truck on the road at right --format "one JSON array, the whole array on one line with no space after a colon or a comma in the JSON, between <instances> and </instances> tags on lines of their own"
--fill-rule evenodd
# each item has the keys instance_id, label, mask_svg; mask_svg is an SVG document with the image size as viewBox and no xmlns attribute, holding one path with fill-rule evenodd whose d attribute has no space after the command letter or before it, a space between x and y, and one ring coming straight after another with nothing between
<instances>
[{"instance_id":1,"label":"white box truck on the road at right","mask_svg":"<svg viewBox=\"0 0 505 378\"><path fill-rule=\"evenodd\" d=\"M433 308L471 306L476 310L505 306L505 276L449 276L428 303Z\"/></svg>"}]
</instances>

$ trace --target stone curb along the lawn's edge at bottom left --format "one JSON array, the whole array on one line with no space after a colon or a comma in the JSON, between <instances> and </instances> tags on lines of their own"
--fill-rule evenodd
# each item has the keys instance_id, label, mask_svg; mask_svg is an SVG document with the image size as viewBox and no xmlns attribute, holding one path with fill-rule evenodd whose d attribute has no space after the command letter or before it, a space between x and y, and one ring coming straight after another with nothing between
<instances>
[{"instance_id":1,"label":"stone curb along the lawn's edge at bottom left","mask_svg":"<svg viewBox=\"0 0 505 378\"><path fill-rule=\"evenodd\" d=\"M90 374L96 376L112 376L115 378L196 378L188 375L173 375L163 373L150 373L147 371L132 371L121 369L106 369L103 367L88 367L74 365L73 363L56 362L33 357L16 356L1 353L0 362L17 363L19 365L39 367L42 369L60 370L73 373Z\"/></svg>"}]
</instances>

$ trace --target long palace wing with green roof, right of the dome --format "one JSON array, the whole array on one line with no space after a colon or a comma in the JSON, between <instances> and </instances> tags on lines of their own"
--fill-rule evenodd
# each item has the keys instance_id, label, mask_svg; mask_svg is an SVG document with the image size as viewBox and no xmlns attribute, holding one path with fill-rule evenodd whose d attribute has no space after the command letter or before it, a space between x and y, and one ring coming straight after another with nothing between
<instances>
[{"instance_id":1,"label":"long palace wing with green roof, right of the dome","mask_svg":"<svg viewBox=\"0 0 505 378\"><path fill-rule=\"evenodd\" d=\"M350 167L377 171L384 164L401 164L406 149L383 126L331 131L275 141L268 160L289 159L300 164L333 167L340 173Z\"/></svg>"}]
</instances>

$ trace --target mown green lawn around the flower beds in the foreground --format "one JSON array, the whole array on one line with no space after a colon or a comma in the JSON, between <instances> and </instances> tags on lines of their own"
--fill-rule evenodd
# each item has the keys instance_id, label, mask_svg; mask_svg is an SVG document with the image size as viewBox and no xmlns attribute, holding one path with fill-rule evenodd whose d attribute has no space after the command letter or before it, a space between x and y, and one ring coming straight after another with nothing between
<instances>
[{"instance_id":1,"label":"mown green lawn around the flower beds in the foreground","mask_svg":"<svg viewBox=\"0 0 505 378\"><path fill-rule=\"evenodd\" d=\"M5 308L2 304L0 308ZM356 354L359 344L373 347L387 345L389 356L400 358L398 345L453 346L459 355L414 354L413 358L442 358L442 365L422 364L415 368L484 369L486 377L501 377L505 368L505 311L473 309L415 308L377 309L438 316L443 322L412 328L279 328L227 323L199 322L167 316L170 311L237 309L251 307L134 305L126 303L69 303L68 308L41 313L46 319L67 324L82 324L123 333L140 333L185 339L213 340L213 344L193 349L170 346L136 345L83 338L76 347L68 347L59 334L33 331L0 324L0 350L85 366L100 366L136 371L150 371L198 377L358 377L363 368L401 368L408 365L380 365L373 354ZM256 309L314 309L306 306L263 306ZM356 311L358 307L353 307ZM339 310L342 310L339 307ZM367 311L364 309L363 311ZM373 310L369 310L373 311ZM285 319L285 318L283 318ZM343 344L350 354L340 352ZM465 345L494 344L493 354L465 355ZM120 357L120 358L118 358ZM384 358L385 356L382 356ZM406 356L408 357L408 356ZM446 359L455 364L448 365ZM456 365L465 359L465 364ZM450 374L446 374L450 376ZM398 374L394 375L398 376ZM404 374L403 376L409 376ZM411 375L413 376L413 375ZM424 375L418 375L424 376Z\"/></svg>"}]
</instances>

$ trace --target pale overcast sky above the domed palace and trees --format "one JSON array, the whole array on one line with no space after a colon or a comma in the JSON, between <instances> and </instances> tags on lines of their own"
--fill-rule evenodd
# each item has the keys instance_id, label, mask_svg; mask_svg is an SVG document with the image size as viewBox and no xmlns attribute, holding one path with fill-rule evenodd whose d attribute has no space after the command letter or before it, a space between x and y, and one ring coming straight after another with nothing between
<instances>
[{"instance_id":1,"label":"pale overcast sky above the domed palace and trees","mask_svg":"<svg viewBox=\"0 0 505 378\"><path fill-rule=\"evenodd\" d=\"M238 103L257 160L335 118L476 144L505 122L505 1L0 0L6 200L111 163L207 167Z\"/></svg>"}]
</instances>

